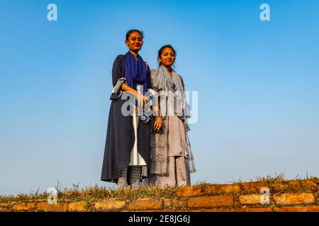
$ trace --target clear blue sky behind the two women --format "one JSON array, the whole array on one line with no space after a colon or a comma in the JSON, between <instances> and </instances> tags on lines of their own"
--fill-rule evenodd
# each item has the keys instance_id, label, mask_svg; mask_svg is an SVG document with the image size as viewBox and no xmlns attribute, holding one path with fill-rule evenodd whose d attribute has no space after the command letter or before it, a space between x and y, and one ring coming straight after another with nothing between
<instances>
[{"instance_id":1,"label":"clear blue sky behind the two women","mask_svg":"<svg viewBox=\"0 0 319 226\"><path fill-rule=\"evenodd\" d=\"M198 91L193 183L318 176L318 15L317 0L1 0L0 195L113 186L100 181L111 67L131 28L151 68L174 45Z\"/></svg>"}]
</instances>

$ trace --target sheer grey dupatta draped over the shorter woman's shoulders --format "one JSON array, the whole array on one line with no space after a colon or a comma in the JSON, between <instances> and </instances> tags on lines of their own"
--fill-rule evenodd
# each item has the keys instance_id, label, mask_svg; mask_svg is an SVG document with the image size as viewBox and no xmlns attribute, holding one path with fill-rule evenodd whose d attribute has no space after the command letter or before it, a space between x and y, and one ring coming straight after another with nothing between
<instances>
[{"instance_id":1,"label":"sheer grey dupatta draped over the shorter woman's shoulders","mask_svg":"<svg viewBox=\"0 0 319 226\"><path fill-rule=\"evenodd\" d=\"M190 111L189 105L186 102L184 81L174 70L172 70L172 77L169 76L169 71L165 66L159 66L158 69L153 69L151 71L151 81L152 88L161 95L160 110L162 113L163 125L162 129L160 129L158 133L155 133L155 131L152 130L150 173L162 176L167 175L168 173L169 158L167 147L167 128L169 124L169 117L167 117L167 115L171 112L166 112L166 109L168 109L169 104L174 104L174 114L184 121L185 139L189 154L189 172L196 172L194 156L191 152L191 143L189 142L189 137L187 135L187 132L190 130L187 124L187 118L190 115ZM162 98L163 96L164 98ZM165 108L164 111L162 111L163 108ZM171 109L171 107L169 107L169 109Z\"/></svg>"}]
</instances>

